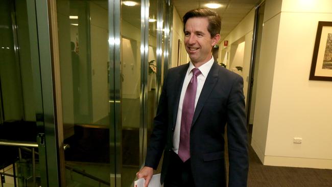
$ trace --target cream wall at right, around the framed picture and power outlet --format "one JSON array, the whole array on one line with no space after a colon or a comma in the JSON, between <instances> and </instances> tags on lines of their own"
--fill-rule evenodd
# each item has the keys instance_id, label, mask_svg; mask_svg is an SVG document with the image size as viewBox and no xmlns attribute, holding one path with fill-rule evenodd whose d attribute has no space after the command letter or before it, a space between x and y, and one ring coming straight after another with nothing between
<instances>
[{"instance_id":1,"label":"cream wall at right, around the framed picture and power outlet","mask_svg":"<svg viewBox=\"0 0 332 187\"><path fill-rule=\"evenodd\" d=\"M309 80L318 21L332 21L332 2L278 3L266 1L252 146L265 165L332 169L332 82Z\"/></svg>"}]
</instances>

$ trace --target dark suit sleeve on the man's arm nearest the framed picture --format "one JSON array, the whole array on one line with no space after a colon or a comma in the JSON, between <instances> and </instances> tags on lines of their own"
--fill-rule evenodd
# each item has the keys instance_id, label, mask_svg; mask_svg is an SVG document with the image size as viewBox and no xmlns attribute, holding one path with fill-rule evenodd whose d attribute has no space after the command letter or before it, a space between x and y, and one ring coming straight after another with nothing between
<instances>
[{"instance_id":1,"label":"dark suit sleeve on the man's arm nearest the framed picture","mask_svg":"<svg viewBox=\"0 0 332 187\"><path fill-rule=\"evenodd\" d=\"M232 85L227 103L227 138L229 187L247 186L248 137L246 127L243 79L238 76Z\"/></svg>"}]
</instances>

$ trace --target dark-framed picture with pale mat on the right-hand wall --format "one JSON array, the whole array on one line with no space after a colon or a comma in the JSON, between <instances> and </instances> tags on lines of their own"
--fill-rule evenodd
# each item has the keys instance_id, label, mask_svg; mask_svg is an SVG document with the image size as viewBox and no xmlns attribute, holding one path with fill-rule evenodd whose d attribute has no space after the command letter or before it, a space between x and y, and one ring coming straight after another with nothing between
<instances>
[{"instance_id":1,"label":"dark-framed picture with pale mat on the right-hand wall","mask_svg":"<svg viewBox=\"0 0 332 187\"><path fill-rule=\"evenodd\" d=\"M332 22L319 21L309 80L332 81Z\"/></svg>"}]
</instances>

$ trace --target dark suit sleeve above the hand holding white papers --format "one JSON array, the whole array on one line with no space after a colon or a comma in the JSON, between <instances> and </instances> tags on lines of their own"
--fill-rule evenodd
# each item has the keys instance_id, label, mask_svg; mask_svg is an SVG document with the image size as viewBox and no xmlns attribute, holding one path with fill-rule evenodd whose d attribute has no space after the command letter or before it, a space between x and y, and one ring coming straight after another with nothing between
<instances>
[{"instance_id":1,"label":"dark suit sleeve above the hand holding white papers","mask_svg":"<svg viewBox=\"0 0 332 187\"><path fill-rule=\"evenodd\" d=\"M167 78L165 78L158 103L157 114L154 118L154 128L150 136L145 166L157 169L167 138L168 101Z\"/></svg>"}]
</instances>

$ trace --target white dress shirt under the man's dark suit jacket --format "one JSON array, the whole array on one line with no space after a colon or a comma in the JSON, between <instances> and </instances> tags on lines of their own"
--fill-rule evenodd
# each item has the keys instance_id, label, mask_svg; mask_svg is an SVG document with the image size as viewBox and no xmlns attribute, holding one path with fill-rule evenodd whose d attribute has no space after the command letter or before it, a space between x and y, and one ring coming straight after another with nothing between
<instances>
[{"instance_id":1,"label":"white dress shirt under the man's dark suit jacket","mask_svg":"<svg viewBox=\"0 0 332 187\"><path fill-rule=\"evenodd\" d=\"M201 91L202 91L204 82L206 80L207 74L210 72L210 69L211 69L214 61L215 61L215 59L212 56L212 58L209 61L207 61L206 63L204 63L203 65L198 67L198 69L201 71L201 74L199 76L197 76L197 92L196 92L196 98L195 98L195 109L196 109L198 98L201 95ZM174 130L174 135L173 135L173 151L176 154L178 154L178 150L179 150L183 99L184 99L185 91L187 90L187 86L193 77L193 73L192 73L193 68L195 68L195 66L190 61L189 67L188 67L187 73L185 74L185 78L184 78L183 85L182 85L180 102L179 102L179 107L178 107L178 114L177 114L177 118L176 118L175 130Z\"/></svg>"}]
</instances>

